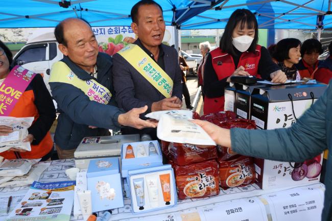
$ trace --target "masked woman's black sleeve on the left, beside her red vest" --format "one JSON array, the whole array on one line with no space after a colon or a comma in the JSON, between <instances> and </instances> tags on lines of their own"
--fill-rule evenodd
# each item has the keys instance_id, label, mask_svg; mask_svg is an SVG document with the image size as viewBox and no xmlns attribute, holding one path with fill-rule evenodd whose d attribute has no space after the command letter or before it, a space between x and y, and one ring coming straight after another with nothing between
<instances>
[{"instance_id":1,"label":"masked woman's black sleeve on the left, beside her red vest","mask_svg":"<svg viewBox=\"0 0 332 221\"><path fill-rule=\"evenodd\" d=\"M208 54L203 73L203 92L209 98L221 97L224 95L227 78L218 80L215 69L212 67L212 56Z\"/></svg>"}]
</instances>

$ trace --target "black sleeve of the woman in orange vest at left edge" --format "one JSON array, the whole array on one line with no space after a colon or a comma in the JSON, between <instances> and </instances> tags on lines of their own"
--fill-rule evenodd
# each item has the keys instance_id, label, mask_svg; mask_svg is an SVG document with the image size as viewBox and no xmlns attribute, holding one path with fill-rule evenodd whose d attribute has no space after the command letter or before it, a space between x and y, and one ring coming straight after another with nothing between
<instances>
[{"instance_id":1,"label":"black sleeve of the woman in orange vest at left edge","mask_svg":"<svg viewBox=\"0 0 332 221\"><path fill-rule=\"evenodd\" d=\"M50 92L46 89L45 83L41 75L37 74L31 82L35 95L34 104L37 107L39 117L29 127L29 134L35 137L33 145L38 145L50 130L53 121L56 118L56 111Z\"/></svg>"}]
</instances>

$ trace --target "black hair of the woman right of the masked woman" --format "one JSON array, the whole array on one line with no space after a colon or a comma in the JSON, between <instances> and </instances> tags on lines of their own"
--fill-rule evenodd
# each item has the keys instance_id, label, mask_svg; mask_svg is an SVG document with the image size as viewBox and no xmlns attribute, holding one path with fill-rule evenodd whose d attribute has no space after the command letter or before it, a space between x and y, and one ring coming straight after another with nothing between
<instances>
[{"instance_id":1,"label":"black hair of the woman right of the masked woman","mask_svg":"<svg viewBox=\"0 0 332 221\"><path fill-rule=\"evenodd\" d=\"M291 48L301 47L301 41L297 38L284 38L277 43L275 47L274 58L282 62L286 59L289 59L289 50Z\"/></svg>"}]
</instances>

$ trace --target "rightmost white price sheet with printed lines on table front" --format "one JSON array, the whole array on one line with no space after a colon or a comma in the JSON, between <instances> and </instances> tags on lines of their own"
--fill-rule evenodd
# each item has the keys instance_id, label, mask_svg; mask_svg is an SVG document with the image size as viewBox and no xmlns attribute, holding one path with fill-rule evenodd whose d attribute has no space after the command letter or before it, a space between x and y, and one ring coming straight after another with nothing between
<instances>
[{"instance_id":1,"label":"rightmost white price sheet with printed lines on table front","mask_svg":"<svg viewBox=\"0 0 332 221\"><path fill-rule=\"evenodd\" d=\"M319 188L300 187L262 195L268 202L272 220L320 220L324 192Z\"/></svg>"}]
</instances>

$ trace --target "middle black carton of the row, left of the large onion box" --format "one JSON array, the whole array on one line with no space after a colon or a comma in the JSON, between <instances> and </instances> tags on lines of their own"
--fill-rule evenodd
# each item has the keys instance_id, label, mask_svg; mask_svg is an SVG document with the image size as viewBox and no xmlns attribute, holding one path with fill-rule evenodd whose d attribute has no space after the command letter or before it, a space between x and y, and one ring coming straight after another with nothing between
<instances>
[{"instance_id":1,"label":"middle black carton of the row, left of the large onion box","mask_svg":"<svg viewBox=\"0 0 332 221\"><path fill-rule=\"evenodd\" d=\"M250 118L251 93L255 88L267 87L266 84L240 84L235 83L235 113L239 118Z\"/></svg>"}]
</instances>

